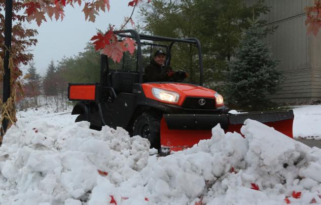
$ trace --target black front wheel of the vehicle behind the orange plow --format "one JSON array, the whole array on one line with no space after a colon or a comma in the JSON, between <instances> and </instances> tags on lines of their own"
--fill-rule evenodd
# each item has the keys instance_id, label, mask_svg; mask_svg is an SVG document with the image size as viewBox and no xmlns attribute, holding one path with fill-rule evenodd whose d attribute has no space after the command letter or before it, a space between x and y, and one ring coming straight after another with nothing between
<instances>
[{"instance_id":1,"label":"black front wheel of the vehicle behind the orange plow","mask_svg":"<svg viewBox=\"0 0 321 205\"><path fill-rule=\"evenodd\" d=\"M133 135L140 135L151 143L151 148L160 148L160 119L154 113L143 113L134 122Z\"/></svg>"}]
</instances>

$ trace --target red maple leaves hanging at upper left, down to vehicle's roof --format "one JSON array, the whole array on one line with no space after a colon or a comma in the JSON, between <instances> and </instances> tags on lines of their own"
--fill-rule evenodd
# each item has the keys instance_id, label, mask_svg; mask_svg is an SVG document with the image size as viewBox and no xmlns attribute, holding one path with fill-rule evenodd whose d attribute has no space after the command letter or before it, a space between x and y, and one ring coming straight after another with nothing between
<instances>
[{"instance_id":1,"label":"red maple leaves hanging at upper left, down to vehicle's roof","mask_svg":"<svg viewBox=\"0 0 321 205\"><path fill-rule=\"evenodd\" d=\"M147 0L149 3L151 0ZM128 3L129 7L133 7L133 11L138 3L141 3L142 0L133 0ZM70 5L74 7L74 4L83 6L83 12L85 15L85 20L95 22L96 16L99 15L99 11L109 11L110 3L109 0L93 0L91 2L85 2L82 0L27 0L24 5L26 6L25 13L28 16L28 20L35 20L40 26L43 21L47 21L45 14L52 20L54 17L56 20L64 18L64 7ZM133 14L132 11L132 14ZM131 14L131 16L132 16ZM130 22L134 25L134 22L131 18L126 18L124 26ZM97 32L95 36L91 38L91 41L94 41L96 51L108 55L115 62L120 62L123 52L129 51L133 54L135 50L135 43L132 39L126 38L124 41L117 38L114 32L114 28L110 26L109 30L105 33Z\"/></svg>"}]
</instances>

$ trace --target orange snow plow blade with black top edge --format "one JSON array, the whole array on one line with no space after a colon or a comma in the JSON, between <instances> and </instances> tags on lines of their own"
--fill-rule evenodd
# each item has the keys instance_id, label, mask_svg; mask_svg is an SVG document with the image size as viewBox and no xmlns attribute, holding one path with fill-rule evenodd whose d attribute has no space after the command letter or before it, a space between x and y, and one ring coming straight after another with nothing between
<instances>
[{"instance_id":1,"label":"orange snow plow blade with black top edge","mask_svg":"<svg viewBox=\"0 0 321 205\"><path fill-rule=\"evenodd\" d=\"M240 129L246 119L257 120L293 138L292 110L281 112L255 112L244 114L164 114L161 120L161 153L179 151L211 138L211 129L220 123L225 132Z\"/></svg>"}]
</instances>

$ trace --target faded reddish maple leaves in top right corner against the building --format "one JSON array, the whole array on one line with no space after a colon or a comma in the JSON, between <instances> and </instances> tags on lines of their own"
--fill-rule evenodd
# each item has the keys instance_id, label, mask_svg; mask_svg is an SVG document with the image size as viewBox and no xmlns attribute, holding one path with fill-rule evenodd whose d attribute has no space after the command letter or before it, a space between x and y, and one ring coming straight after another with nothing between
<instances>
[{"instance_id":1,"label":"faded reddish maple leaves in top right corner against the building","mask_svg":"<svg viewBox=\"0 0 321 205\"><path fill-rule=\"evenodd\" d=\"M314 36L317 35L321 27L321 2L320 0L314 0L314 5L311 7L305 7L306 13L305 25L308 26L307 32L312 33Z\"/></svg>"}]
</instances>

